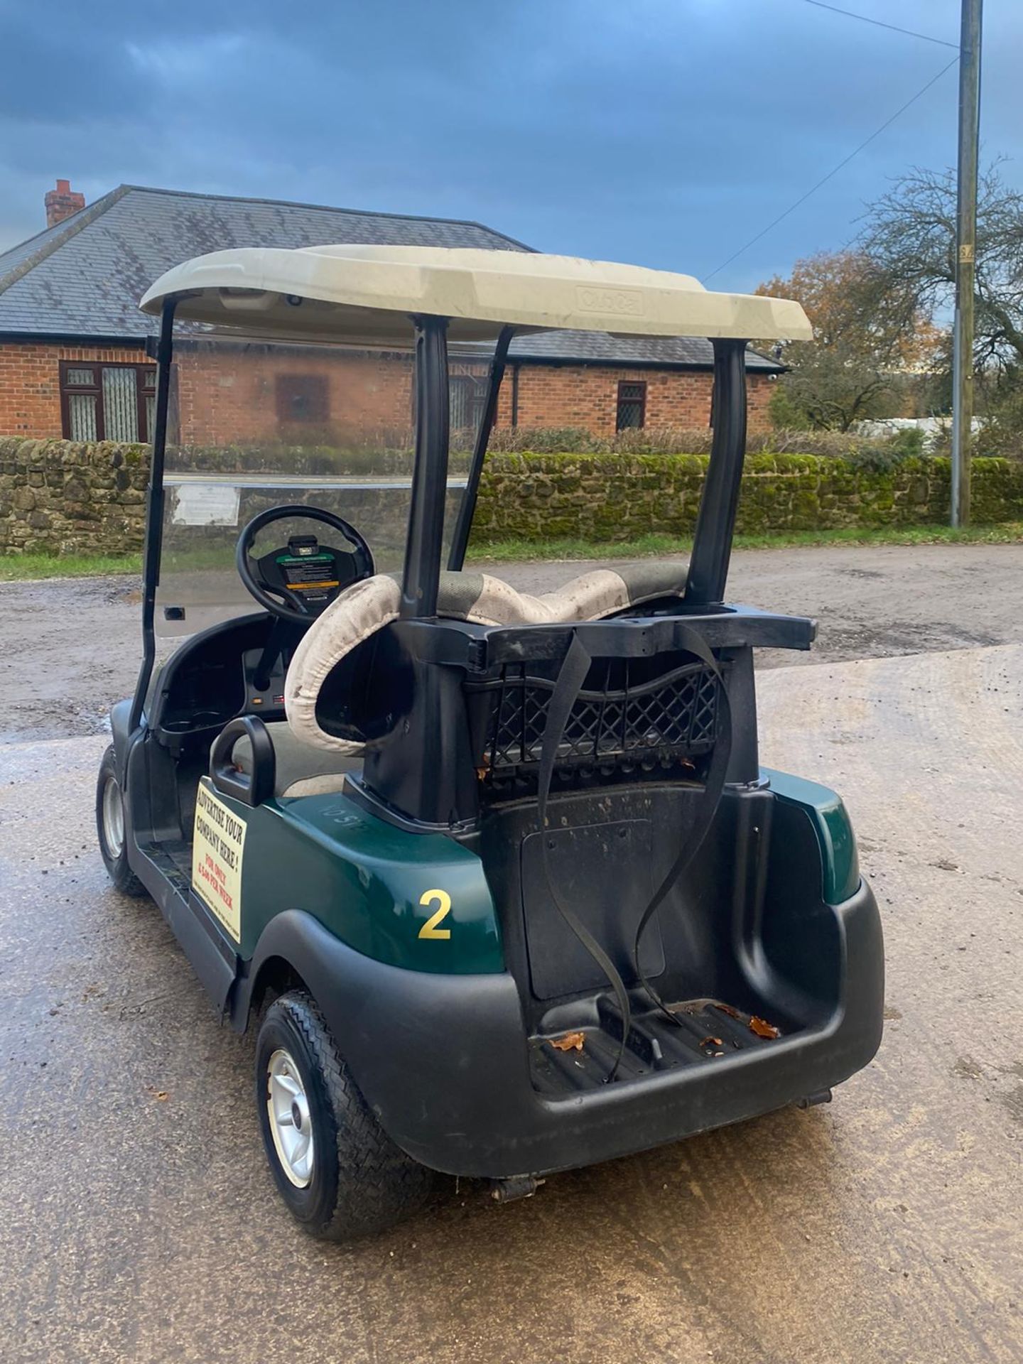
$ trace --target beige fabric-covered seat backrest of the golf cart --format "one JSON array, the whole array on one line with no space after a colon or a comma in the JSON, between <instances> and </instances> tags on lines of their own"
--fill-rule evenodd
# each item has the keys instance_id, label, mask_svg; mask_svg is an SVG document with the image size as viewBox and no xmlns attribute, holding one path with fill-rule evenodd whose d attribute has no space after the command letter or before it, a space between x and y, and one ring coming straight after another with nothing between
<instances>
[{"instance_id":1,"label":"beige fabric-covered seat backrest of the golf cart","mask_svg":"<svg viewBox=\"0 0 1023 1364\"><path fill-rule=\"evenodd\" d=\"M600 621L660 597L681 597L686 563L640 563L595 569L570 578L557 592L531 596L488 573L442 573L436 614L476 625L563 625ZM295 651L284 686L292 738L299 747L357 758L364 745L327 734L316 719L321 687L360 644L398 617L397 578L376 574L353 582L310 626Z\"/></svg>"}]
</instances>

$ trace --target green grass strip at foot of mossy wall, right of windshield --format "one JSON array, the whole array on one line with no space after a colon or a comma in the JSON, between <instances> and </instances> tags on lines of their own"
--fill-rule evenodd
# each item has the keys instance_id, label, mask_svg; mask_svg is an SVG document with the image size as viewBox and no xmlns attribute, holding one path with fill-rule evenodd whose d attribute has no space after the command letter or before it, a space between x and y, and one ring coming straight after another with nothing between
<instances>
[{"instance_id":1,"label":"green grass strip at foot of mossy wall, right of windshield","mask_svg":"<svg viewBox=\"0 0 1023 1364\"><path fill-rule=\"evenodd\" d=\"M848 528L842 531L792 531L788 535L737 535L737 550L792 550L827 544L1019 544L1023 521L1000 525L907 525ZM692 536L644 535L636 540L492 540L469 546L468 559L512 563L536 559L641 559L660 554L687 554Z\"/></svg>"}]
</instances>

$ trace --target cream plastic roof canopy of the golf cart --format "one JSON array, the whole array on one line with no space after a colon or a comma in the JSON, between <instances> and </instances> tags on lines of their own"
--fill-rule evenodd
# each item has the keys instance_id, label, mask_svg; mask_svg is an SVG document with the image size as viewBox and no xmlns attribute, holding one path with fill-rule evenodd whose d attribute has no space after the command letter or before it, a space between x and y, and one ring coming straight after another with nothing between
<instances>
[{"instance_id":1,"label":"cream plastic roof canopy of the golf cart","mask_svg":"<svg viewBox=\"0 0 1023 1364\"><path fill-rule=\"evenodd\" d=\"M250 336L408 344L409 316L450 319L451 341L574 329L638 337L806 341L798 303L711 293L689 274L608 261L447 247L247 247L162 274L142 300L160 312Z\"/></svg>"}]
</instances>

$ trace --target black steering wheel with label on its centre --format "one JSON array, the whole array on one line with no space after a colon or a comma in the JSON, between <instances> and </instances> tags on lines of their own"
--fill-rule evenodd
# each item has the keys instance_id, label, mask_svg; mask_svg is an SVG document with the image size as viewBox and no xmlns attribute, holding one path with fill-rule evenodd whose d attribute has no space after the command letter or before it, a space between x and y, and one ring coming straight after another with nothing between
<instances>
[{"instance_id":1,"label":"black steering wheel with label on its centre","mask_svg":"<svg viewBox=\"0 0 1023 1364\"><path fill-rule=\"evenodd\" d=\"M293 535L286 546L254 559L252 542L256 535L274 521L291 517L322 521L348 540L352 551L321 544L315 535ZM375 573L370 546L353 525L333 512L301 505L270 507L252 517L237 537L235 563L239 577L259 606L282 621L299 625L308 625L346 587L361 578L371 578Z\"/></svg>"}]
</instances>

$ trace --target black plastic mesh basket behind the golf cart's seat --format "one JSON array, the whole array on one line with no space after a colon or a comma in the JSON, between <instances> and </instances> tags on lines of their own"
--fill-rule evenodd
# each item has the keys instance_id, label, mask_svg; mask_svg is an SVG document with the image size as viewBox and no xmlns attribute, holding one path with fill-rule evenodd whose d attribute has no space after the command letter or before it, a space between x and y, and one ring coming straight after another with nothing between
<instances>
[{"instance_id":1,"label":"black plastic mesh basket behind the golf cart's seat","mask_svg":"<svg viewBox=\"0 0 1023 1364\"><path fill-rule=\"evenodd\" d=\"M713 672L690 659L649 677L649 663L595 663L565 724L559 767L677 761L713 747L719 712ZM477 716L483 767L491 773L539 767L554 678L537 677L529 663L509 663L499 678L468 683L466 690Z\"/></svg>"}]
</instances>

